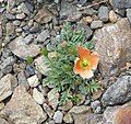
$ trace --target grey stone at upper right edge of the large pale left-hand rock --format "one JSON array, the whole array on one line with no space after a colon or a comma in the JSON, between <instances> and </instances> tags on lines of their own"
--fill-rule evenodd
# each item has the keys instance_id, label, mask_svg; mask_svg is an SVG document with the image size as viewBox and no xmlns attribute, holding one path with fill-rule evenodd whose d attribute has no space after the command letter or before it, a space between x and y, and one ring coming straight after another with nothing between
<instances>
[{"instance_id":1,"label":"grey stone at upper right edge of the large pale left-hand rock","mask_svg":"<svg viewBox=\"0 0 131 124\"><path fill-rule=\"evenodd\" d=\"M44 30L40 34L38 34L36 40L39 43L41 43L41 42L45 42L48 37L49 37L49 31L48 30Z\"/></svg>"}]
</instances>

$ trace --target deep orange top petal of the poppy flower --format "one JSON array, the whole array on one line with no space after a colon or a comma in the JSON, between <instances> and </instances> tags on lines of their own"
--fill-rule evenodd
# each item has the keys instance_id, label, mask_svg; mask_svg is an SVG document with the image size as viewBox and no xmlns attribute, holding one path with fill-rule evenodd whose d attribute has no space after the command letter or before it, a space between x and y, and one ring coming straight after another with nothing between
<instances>
[{"instance_id":1,"label":"deep orange top petal of the poppy flower","mask_svg":"<svg viewBox=\"0 0 131 124\"><path fill-rule=\"evenodd\" d=\"M78 46L78 53L81 59L87 58L91 55L91 52L82 46Z\"/></svg>"}]
</instances>

